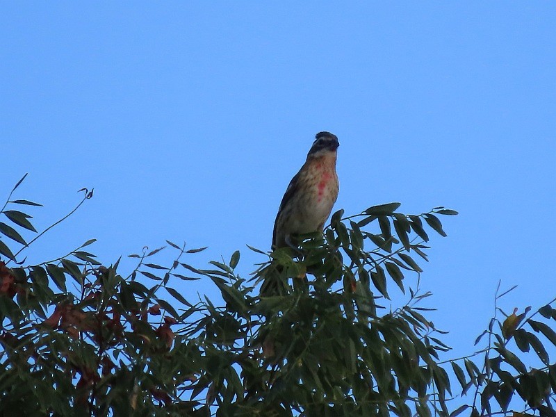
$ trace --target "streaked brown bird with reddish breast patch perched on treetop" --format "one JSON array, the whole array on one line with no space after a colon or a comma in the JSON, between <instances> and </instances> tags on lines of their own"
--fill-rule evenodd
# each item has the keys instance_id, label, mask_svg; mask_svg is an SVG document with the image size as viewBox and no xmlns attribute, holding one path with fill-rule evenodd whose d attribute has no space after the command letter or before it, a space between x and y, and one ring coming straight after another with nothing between
<instances>
[{"instance_id":1,"label":"streaked brown bird with reddish breast patch perched on treetop","mask_svg":"<svg viewBox=\"0 0 556 417\"><path fill-rule=\"evenodd\" d=\"M338 198L338 146L338 138L332 133L316 134L305 163L290 181L280 203L272 249L295 247L295 235L322 231Z\"/></svg>"}]
</instances>

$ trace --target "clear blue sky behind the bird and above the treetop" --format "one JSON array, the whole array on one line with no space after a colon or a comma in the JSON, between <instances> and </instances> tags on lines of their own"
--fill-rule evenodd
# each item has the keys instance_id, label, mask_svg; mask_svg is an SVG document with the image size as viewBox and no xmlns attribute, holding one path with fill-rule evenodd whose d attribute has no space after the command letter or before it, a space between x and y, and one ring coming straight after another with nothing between
<instances>
[{"instance_id":1,"label":"clear blue sky behind the bird and above the treetop","mask_svg":"<svg viewBox=\"0 0 556 417\"><path fill-rule=\"evenodd\" d=\"M95 188L30 260L186 240L210 247L197 266L241 250L247 276L264 259L245 244L270 249L288 181L331 131L336 208L460 212L422 287L471 352L500 279L518 284L506 311L556 295L555 22L548 1L4 1L1 193L29 172L17 197L44 204L44 228Z\"/></svg>"}]
</instances>

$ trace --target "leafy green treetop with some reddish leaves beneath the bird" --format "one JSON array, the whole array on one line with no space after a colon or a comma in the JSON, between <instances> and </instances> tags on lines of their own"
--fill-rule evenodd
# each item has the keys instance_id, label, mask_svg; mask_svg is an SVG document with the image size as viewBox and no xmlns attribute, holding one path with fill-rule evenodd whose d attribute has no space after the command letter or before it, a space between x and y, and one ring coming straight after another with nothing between
<instances>
[{"instance_id":1,"label":"leafy green treetop with some reddish leaves beneath the bird","mask_svg":"<svg viewBox=\"0 0 556 417\"><path fill-rule=\"evenodd\" d=\"M94 240L27 265L22 252L44 231L22 236L37 232L22 210L40 205L11 199L23 179L1 210L1 416L556 415L553 303L503 319L498 309L477 338L486 347L440 359L450 348L418 304L430 293L404 278L421 272L416 257L427 261L427 233L445 236L439 215L455 211L338 211L300 252L251 248L266 261L249 279L240 252L198 268L189 258L204 248L170 241L170 265L155 263L159 248L131 255L137 266L122 274L119 260L88 252ZM92 197L83 191L78 207ZM265 278L284 295L260 297ZM173 288L195 279L213 281L225 305ZM394 291L409 301L386 311ZM530 350L541 366L523 362Z\"/></svg>"}]
</instances>

